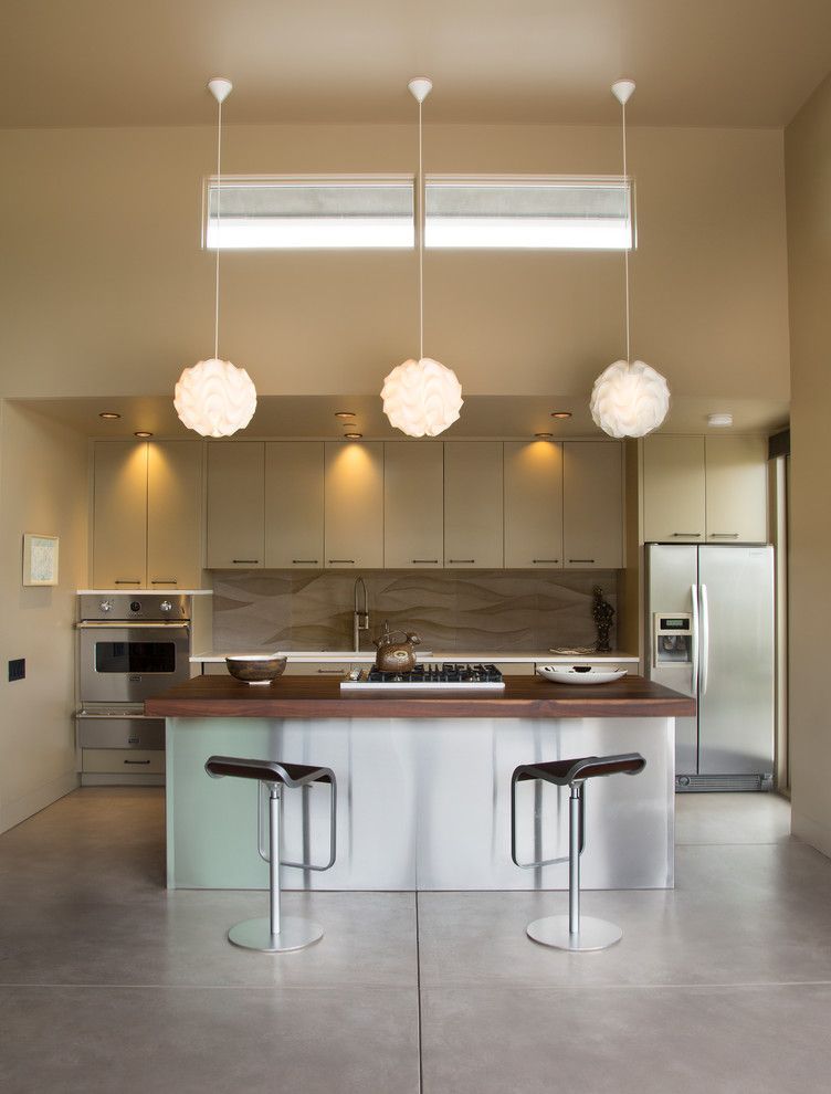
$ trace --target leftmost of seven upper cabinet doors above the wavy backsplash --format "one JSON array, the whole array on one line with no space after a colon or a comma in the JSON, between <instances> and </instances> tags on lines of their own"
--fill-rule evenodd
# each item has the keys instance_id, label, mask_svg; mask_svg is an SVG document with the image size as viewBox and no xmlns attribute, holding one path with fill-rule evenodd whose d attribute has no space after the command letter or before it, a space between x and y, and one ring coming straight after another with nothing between
<instances>
[{"instance_id":1,"label":"leftmost of seven upper cabinet doors above the wavy backsplash","mask_svg":"<svg viewBox=\"0 0 831 1094\"><path fill-rule=\"evenodd\" d=\"M263 565L264 490L261 441L209 442L206 566Z\"/></svg>"}]
</instances>

